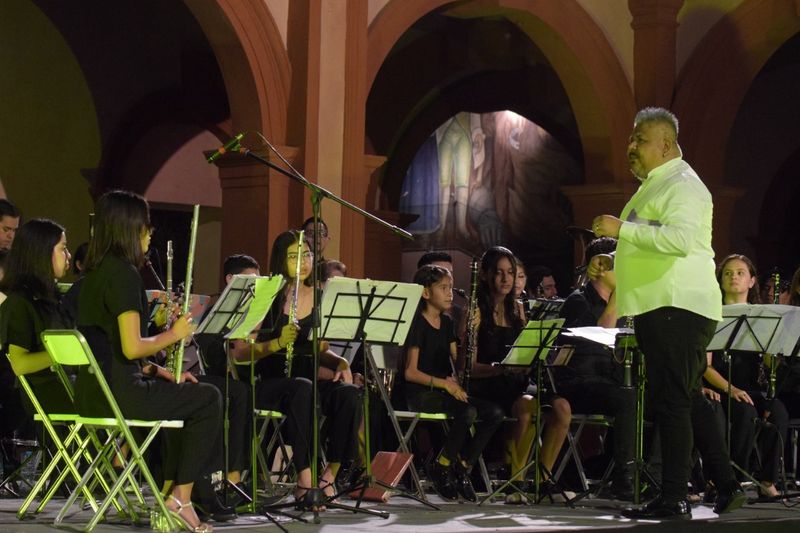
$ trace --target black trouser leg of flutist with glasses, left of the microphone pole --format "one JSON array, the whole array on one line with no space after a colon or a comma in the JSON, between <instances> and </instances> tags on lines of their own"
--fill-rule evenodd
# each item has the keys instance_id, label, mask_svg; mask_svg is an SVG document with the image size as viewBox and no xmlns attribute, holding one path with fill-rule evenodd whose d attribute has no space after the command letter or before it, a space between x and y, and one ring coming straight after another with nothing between
<instances>
[{"instance_id":1,"label":"black trouser leg of flutist with glasses, left of the microphone pole","mask_svg":"<svg viewBox=\"0 0 800 533\"><path fill-rule=\"evenodd\" d=\"M286 437L292 463L300 472L311 464L311 381L305 378L268 378L256 383L256 407L286 415Z\"/></svg>"}]
</instances>

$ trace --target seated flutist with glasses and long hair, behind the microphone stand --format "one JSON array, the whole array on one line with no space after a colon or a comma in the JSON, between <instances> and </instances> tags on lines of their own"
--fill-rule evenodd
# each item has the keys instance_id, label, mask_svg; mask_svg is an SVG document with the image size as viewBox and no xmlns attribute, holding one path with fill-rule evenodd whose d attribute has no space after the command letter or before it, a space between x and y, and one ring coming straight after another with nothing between
<instances>
[{"instance_id":1,"label":"seated flutist with glasses and long hair, behind the microphone stand","mask_svg":"<svg viewBox=\"0 0 800 533\"><path fill-rule=\"evenodd\" d=\"M278 409L287 414L292 460L298 471L295 498L300 507L307 508L309 502L305 496L311 485L311 379L315 371L309 332L315 289L310 279L313 255L305 245L298 254L299 236L297 231L287 231L272 245L270 270L273 274L282 274L288 284L267 313L264 323L267 333L259 335L258 342L252 346L258 361L256 373L260 377L256 385L256 407ZM300 275L295 279L298 261ZM295 288L297 298L293 301ZM295 313L297 324L290 322L291 312ZM293 357L287 362L286 351L290 344ZM328 464L320 476L319 487L325 496L331 497L336 492L334 480L342 462L352 460L358 450L361 396L353 385L347 360L328 350L324 342L320 344L319 355L319 395L329 429ZM234 357L249 360L250 346L237 346ZM286 375L287 367L290 377Z\"/></svg>"}]
</instances>

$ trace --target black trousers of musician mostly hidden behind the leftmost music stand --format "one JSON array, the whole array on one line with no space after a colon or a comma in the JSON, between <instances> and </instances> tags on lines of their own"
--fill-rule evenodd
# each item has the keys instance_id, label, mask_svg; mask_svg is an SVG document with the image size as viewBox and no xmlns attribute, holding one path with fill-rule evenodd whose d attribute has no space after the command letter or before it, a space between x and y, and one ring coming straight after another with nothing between
<instances>
[{"instance_id":1,"label":"black trousers of musician mostly hidden behind the leftmost music stand","mask_svg":"<svg viewBox=\"0 0 800 533\"><path fill-rule=\"evenodd\" d=\"M217 388L222 395L222 406L225 408L225 378L222 376L197 376L200 383L209 383ZM250 438L250 387L237 379L228 378L228 469L232 472L241 472L245 468L248 457ZM224 421L223 411L223 421ZM220 424L220 431L224 442L224 424ZM224 467L224 456L220 457L220 467Z\"/></svg>"}]
</instances>

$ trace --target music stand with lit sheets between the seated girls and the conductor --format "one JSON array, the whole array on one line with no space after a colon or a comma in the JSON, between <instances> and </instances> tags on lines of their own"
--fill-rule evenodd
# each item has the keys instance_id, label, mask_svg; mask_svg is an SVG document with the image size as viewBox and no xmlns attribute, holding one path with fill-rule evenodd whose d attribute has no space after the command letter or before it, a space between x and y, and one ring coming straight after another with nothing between
<instances>
[{"instance_id":1,"label":"music stand with lit sheets between the seated girls and the conductor","mask_svg":"<svg viewBox=\"0 0 800 533\"><path fill-rule=\"evenodd\" d=\"M563 325L563 318L529 321L522 329L519 336L517 336L517 338L514 340L514 344L509 347L506 357L501 362L494 363L499 366L510 368L524 367L533 370L534 375L536 376L536 439L540 438L542 431L542 365L544 364L547 354L550 353L550 348L553 347L553 343L561 332L561 327ZM509 486L512 480L518 475L522 475L524 477L528 469L534 465L536 465L536 474L534 476L534 502L538 503L541 501L539 497L539 476L541 470L544 470L545 473L550 476L550 479L552 479L553 482L555 482L555 479L553 479L551 472L539 464L539 446L534 443L533 458L528 461L525 466L516 472L512 472L512 474L509 476L509 479L505 483L483 498L478 505L483 505L486 500L494 498L496 494ZM526 500L530 501L527 494L524 492L521 494ZM567 504L571 504L571 500L567 498L563 491L562 495L564 496Z\"/></svg>"}]
</instances>

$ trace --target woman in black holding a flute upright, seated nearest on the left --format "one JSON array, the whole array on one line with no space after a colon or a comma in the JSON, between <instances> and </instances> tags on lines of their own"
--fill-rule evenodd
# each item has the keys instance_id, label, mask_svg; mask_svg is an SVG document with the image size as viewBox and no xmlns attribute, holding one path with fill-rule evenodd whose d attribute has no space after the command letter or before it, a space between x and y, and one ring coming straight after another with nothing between
<instances>
[{"instance_id":1,"label":"woman in black holding a flute upright, seated nearest on the left","mask_svg":"<svg viewBox=\"0 0 800 533\"><path fill-rule=\"evenodd\" d=\"M167 432L177 471L166 503L188 529L209 532L212 527L200 522L190 497L194 482L218 469L210 465L221 455L222 398L213 385L191 378L175 383L142 374L144 358L192 332L191 316L184 315L169 330L146 336L148 306L139 269L152 232L147 201L127 191L108 192L97 201L94 220L78 328L98 362L110 360L107 379L126 417L184 421L183 429Z\"/></svg>"}]
</instances>

